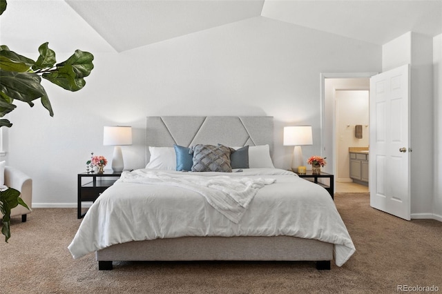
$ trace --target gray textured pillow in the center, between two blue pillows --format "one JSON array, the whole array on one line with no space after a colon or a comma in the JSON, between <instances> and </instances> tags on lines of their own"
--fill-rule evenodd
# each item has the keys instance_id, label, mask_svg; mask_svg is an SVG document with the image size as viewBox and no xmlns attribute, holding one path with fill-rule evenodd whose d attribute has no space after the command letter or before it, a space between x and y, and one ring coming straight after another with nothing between
<instances>
[{"instance_id":1,"label":"gray textured pillow in the center, between two blue pillows","mask_svg":"<svg viewBox=\"0 0 442 294\"><path fill-rule=\"evenodd\" d=\"M226 146L198 144L191 147L193 153L192 171L216 171L231 173L230 154L232 149Z\"/></svg>"}]
</instances>

